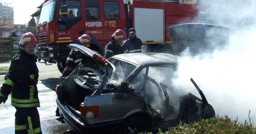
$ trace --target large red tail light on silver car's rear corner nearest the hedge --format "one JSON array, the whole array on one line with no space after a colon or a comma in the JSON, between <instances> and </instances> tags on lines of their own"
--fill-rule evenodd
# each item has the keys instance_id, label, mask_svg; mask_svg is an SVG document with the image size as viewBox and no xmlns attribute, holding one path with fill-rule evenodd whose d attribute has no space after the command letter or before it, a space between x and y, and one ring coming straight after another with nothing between
<instances>
[{"instance_id":1,"label":"large red tail light on silver car's rear corner nearest the hedge","mask_svg":"<svg viewBox=\"0 0 256 134\"><path fill-rule=\"evenodd\" d=\"M79 105L80 113L84 118L97 118L99 114L99 107L98 106L83 106Z\"/></svg>"}]
</instances>

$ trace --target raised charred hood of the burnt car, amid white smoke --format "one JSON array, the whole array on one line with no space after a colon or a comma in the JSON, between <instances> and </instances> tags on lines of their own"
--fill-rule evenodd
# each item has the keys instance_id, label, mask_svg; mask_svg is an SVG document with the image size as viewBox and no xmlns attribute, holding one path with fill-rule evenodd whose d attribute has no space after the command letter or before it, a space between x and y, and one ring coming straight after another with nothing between
<instances>
[{"instance_id":1,"label":"raised charred hood of the burnt car, amid white smoke","mask_svg":"<svg viewBox=\"0 0 256 134\"><path fill-rule=\"evenodd\" d=\"M212 52L229 44L229 28L203 23L185 23L169 27L170 41L175 55L189 47L192 55Z\"/></svg>"}]
</instances>

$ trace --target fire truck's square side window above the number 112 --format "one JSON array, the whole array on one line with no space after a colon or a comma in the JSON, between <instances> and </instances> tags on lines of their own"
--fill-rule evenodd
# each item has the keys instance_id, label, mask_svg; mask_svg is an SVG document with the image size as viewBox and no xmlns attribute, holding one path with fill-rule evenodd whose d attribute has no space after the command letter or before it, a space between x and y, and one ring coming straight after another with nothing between
<instances>
[{"instance_id":1,"label":"fire truck's square side window above the number 112","mask_svg":"<svg viewBox=\"0 0 256 134\"><path fill-rule=\"evenodd\" d=\"M103 1L104 19L120 20L119 3L117 1Z\"/></svg>"}]
</instances>

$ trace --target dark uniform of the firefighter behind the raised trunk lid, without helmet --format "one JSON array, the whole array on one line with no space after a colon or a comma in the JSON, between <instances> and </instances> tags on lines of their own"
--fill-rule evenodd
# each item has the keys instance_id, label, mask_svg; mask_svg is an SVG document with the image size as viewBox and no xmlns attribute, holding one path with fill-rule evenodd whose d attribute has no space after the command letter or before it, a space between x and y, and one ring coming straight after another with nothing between
<instances>
[{"instance_id":1,"label":"dark uniform of the firefighter behind the raised trunk lid, without helmet","mask_svg":"<svg viewBox=\"0 0 256 134\"><path fill-rule=\"evenodd\" d=\"M62 73L62 77L67 77L76 68L82 60L82 54L78 50L71 50L66 60L66 68Z\"/></svg>"}]
</instances>

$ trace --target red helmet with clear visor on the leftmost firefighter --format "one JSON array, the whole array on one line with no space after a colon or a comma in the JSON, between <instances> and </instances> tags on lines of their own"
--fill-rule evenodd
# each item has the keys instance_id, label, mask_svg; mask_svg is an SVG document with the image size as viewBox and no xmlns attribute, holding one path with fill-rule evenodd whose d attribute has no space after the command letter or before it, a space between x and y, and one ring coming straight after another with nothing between
<instances>
[{"instance_id":1,"label":"red helmet with clear visor on the leftmost firefighter","mask_svg":"<svg viewBox=\"0 0 256 134\"><path fill-rule=\"evenodd\" d=\"M37 40L35 39L35 36L31 32L27 32L24 35L22 35L19 45L20 47L23 47L25 44L37 44Z\"/></svg>"}]
</instances>

